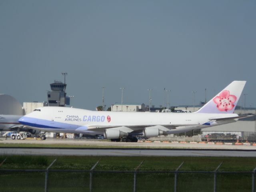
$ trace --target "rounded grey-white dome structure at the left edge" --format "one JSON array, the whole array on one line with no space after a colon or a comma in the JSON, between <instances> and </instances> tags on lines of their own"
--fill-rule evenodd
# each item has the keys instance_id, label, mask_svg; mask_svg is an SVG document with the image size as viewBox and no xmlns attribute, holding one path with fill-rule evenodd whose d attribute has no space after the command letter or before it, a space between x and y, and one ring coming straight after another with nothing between
<instances>
[{"instance_id":1,"label":"rounded grey-white dome structure at the left edge","mask_svg":"<svg viewBox=\"0 0 256 192\"><path fill-rule=\"evenodd\" d=\"M23 115L23 109L15 98L10 95L0 94L1 115Z\"/></svg>"}]
</instances>

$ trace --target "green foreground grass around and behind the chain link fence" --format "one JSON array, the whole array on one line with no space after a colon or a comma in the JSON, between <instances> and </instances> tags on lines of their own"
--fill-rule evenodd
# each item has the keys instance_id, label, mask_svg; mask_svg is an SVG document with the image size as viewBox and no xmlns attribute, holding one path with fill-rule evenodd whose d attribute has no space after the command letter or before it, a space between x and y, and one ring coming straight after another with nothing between
<instances>
[{"instance_id":1,"label":"green foreground grass around and behind the chain link fence","mask_svg":"<svg viewBox=\"0 0 256 192\"><path fill-rule=\"evenodd\" d=\"M176 170L183 162L183 171L213 171L223 162L220 171L252 171L256 158L244 157L112 157L112 156L0 156L6 158L1 169L50 169L90 170L98 161L95 170L133 171L143 160L139 170ZM0 171L0 191L4 192L44 192L44 172L3 172ZM214 174L179 173L177 190L213 191ZM88 172L49 172L48 192L89 191ZM133 191L134 174L131 173L93 173L94 192ZM217 174L217 191L251 191L252 174ZM174 173L138 173L138 192L174 191Z\"/></svg>"}]
</instances>

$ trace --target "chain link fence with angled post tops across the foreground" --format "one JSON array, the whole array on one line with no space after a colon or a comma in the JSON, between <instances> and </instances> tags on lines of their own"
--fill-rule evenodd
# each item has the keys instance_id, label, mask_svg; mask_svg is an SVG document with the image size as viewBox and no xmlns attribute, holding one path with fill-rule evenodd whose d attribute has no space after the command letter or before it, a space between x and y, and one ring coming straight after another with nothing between
<instances>
[{"instance_id":1,"label":"chain link fence with angled post tops across the foreground","mask_svg":"<svg viewBox=\"0 0 256 192\"><path fill-rule=\"evenodd\" d=\"M250 172L140 170L142 161L134 170L0 169L0 191L3 192L255 192L256 168ZM3 162L2 162L3 163ZM0 164L1 166L1 164Z\"/></svg>"}]
</instances>

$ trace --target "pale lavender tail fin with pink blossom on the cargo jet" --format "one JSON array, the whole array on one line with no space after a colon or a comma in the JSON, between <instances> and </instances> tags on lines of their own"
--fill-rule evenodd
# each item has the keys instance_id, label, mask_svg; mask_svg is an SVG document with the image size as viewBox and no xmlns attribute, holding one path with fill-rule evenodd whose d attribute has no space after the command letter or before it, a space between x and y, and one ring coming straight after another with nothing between
<instances>
[{"instance_id":1,"label":"pale lavender tail fin with pink blossom on the cargo jet","mask_svg":"<svg viewBox=\"0 0 256 192\"><path fill-rule=\"evenodd\" d=\"M246 81L233 81L196 113L233 113Z\"/></svg>"}]
</instances>

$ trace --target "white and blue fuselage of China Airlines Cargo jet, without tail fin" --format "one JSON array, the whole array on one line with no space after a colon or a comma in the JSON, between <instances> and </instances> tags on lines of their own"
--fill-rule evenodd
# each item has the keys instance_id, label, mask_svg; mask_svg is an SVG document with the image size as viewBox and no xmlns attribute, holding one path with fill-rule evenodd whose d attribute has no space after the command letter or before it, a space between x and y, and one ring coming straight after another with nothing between
<instances>
[{"instance_id":1,"label":"white and blue fuselage of China Airlines Cargo jet, without tail fin","mask_svg":"<svg viewBox=\"0 0 256 192\"><path fill-rule=\"evenodd\" d=\"M126 132L163 126L168 134L186 132L235 120L216 122L211 118L236 117L237 114L155 113L90 111L65 107L42 107L20 118L19 122L44 132L102 134L105 129L122 127Z\"/></svg>"}]
</instances>

